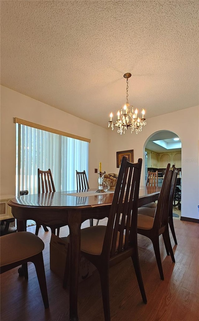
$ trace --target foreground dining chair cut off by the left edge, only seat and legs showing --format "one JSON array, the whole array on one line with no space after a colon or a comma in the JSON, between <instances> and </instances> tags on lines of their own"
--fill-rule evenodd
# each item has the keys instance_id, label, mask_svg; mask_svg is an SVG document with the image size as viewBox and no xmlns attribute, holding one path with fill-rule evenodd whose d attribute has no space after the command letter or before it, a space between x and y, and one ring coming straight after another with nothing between
<instances>
[{"instance_id":1,"label":"foreground dining chair cut off by the left edge, only seat and legs showing","mask_svg":"<svg viewBox=\"0 0 199 321\"><path fill-rule=\"evenodd\" d=\"M7 272L22 264L24 278L28 280L27 262L32 262L35 265L39 287L46 309L49 307L49 304L42 254L43 249L44 242L33 233L17 232L3 235L0 242L0 273Z\"/></svg>"}]
</instances>

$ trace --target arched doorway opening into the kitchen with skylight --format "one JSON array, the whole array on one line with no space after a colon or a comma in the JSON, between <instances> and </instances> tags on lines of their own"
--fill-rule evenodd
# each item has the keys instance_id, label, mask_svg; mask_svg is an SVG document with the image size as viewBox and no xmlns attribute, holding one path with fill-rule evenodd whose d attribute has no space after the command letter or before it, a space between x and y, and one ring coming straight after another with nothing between
<instances>
[{"instance_id":1,"label":"arched doorway opening into the kitchen with skylight","mask_svg":"<svg viewBox=\"0 0 199 321\"><path fill-rule=\"evenodd\" d=\"M148 170L158 170L158 185L161 186L167 164L175 164L179 168L176 192L173 202L173 216L181 216L181 141L174 132L161 130L151 134L144 143L145 180Z\"/></svg>"}]
</instances>

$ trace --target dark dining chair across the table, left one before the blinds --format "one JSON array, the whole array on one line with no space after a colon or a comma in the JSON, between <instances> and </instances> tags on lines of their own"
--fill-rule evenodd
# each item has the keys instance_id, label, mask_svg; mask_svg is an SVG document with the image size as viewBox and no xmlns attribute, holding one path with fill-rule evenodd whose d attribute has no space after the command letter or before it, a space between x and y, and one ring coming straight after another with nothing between
<instances>
[{"instance_id":1,"label":"dark dining chair across the table, left one before the blinds","mask_svg":"<svg viewBox=\"0 0 199 321\"><path fill-rule=\"evenodd\" d=\"M38 168L38 194L41 193L53 193L55 192L55 185L53 182L53 177L51 170L40 170ZM48 228L46 225L42 225L45 231L48 231ZM60 227L64 226L63 224L56 224L56 225L51 225L50 229L51 232L56 234L56 229L57 229L57 236L59 236L59 230ZM39 227L40 225L36 222L36 230L35 234L38 235L39 233Z\"/></svg>"}]
</instances>

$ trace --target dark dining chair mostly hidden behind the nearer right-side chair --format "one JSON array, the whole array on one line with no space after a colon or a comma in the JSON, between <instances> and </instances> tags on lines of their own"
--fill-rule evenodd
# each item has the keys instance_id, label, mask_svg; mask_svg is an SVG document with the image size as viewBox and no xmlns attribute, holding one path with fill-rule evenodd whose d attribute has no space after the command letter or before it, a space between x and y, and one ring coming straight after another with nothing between
<instances>
[{"instance_id":1,"label":"dark dining chair mostly hidden behind the nearer right-side chair","mask_svg":"<svg viewBox=\"0 0 199 321\"><path fill-rule=\"evenodd\" d=\"M174 168L174 165L173 165ZM174 224L173 224L173 197L175 193L175 188L176 188L176 182L177 182L177 175L178 175L179 169L174 168L174 173L173 173L173 178L172 178L172 183L171 183L171 193L170 193L170 198L169 198L169 226L171 229L171 233L174 239L175 244L177 245L177 239L176 239L176 233L174 230ZM163 186L164 187L164 186ZM147 207L145 206L146 209L139 208L138 213L142 215L148 215L151 217L155 216L155 208Z\"/></svg>"}]
</instances>

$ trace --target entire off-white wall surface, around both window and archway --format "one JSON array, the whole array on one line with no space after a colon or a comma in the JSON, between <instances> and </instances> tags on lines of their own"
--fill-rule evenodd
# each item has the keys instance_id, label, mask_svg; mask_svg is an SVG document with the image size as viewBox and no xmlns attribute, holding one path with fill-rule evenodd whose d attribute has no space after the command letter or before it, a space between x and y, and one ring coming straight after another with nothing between
<instances>
[{"instance_id":1,"label":"entire off-white wall surface, around both window and archway","mask_svg":"<svg viewBox=\"0 0 199 321\"><path fill-rule=\"evenodd\" d=\"M93 125L80 118L48 106L1 86L1 149L0 149L0 193L15 194L16 141L13 117L22 118L43 126L90 138L89 184L97 187L98 175L94 168L118 173L116 152L134 150L134 161L144 160L144 149L148 138L157 131L169 130L176 133L182 142L182 213L189 218L199 219L199 106L153 117L147 120L143 132L125 135ZM192 118L191 118L192 117ZM190 122L190 118L192 119ZM106 151L106 152L104 152ZM144 168L144 164L143 164ZM142 171L141 184L144 184Z\"/></svg>"}]
</instances>

